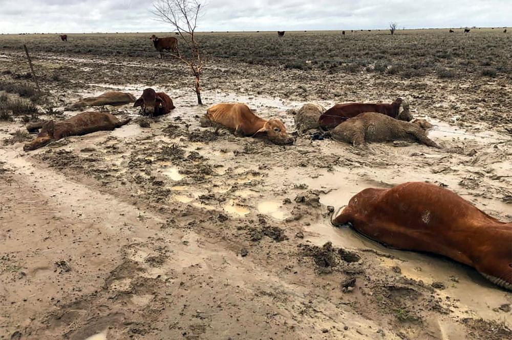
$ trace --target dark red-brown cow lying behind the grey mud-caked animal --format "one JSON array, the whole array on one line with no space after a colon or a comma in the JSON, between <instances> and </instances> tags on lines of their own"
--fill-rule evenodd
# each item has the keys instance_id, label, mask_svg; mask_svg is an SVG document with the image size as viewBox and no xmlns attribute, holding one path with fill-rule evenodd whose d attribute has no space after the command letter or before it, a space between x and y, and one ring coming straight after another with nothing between
<instances>
[{"instance_id":1,"label":"dark red-brown cow lying behind the grey mud-caked animal","mask_svg":"<svg viewBox=\"0 0 512 340\"><path fill-rule=\"evenodd\" d=\"M348 118L355 117L363 112L377 112L390 117L409 122L413 117L409 111L409 102L397 98L391 104L346 103L336 104L325 111L318 119L324 129L332 129Z\"/></svg>"}]
</instances>

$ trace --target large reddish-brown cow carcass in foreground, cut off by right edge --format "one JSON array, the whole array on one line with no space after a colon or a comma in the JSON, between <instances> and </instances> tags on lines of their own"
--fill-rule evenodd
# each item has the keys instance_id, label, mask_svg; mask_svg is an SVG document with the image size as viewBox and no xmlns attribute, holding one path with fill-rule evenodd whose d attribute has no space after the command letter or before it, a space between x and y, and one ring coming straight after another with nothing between
<instances>
[{"instance_id":1,"label":"large reddish-brown cow carcass in foreground, cut off by right edge","mask_svg":"<svg viewBox=\"0 0 512 340\"><path fill-rule=\"evenodd\" d=\"M512 290L512 223L437 185L408 182L362 190L332 224L350 224L392 248L447 256Z\"/></svg>"}]
</instances>

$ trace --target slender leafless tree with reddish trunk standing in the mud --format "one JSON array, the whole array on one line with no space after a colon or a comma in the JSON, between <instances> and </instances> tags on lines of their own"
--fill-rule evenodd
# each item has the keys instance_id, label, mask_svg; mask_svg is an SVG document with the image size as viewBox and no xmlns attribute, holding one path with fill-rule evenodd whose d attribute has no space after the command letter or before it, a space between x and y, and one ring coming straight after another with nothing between
<instances>
[{"instance_id":1,"label":"slender leafless tree with reddish trunk standing in the mud","mask_svg":"<svg viewBox=\"0 0 512 340\"><path fill-rule=\"evenodd\" d=\"M196 79L194 90L197 94L197 103L203 105L201 100L200 78L205 65L205 58L201 53L196 40L197 20L201 16L201 4L198 0L158 0L153 4L153 15L156 20L170 23L188 47L188 53L182 55L179 50L172 52L171 56L185 63Z\"/></svg>"}]
</instances>

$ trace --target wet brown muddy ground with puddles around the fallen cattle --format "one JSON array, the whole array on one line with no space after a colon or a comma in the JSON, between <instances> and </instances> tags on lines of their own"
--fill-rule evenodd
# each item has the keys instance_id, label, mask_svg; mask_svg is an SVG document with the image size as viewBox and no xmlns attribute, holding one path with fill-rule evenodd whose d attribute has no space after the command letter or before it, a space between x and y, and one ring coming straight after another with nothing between
<instances>
[{"instance_id":1,"label":"wet brown muddy ground with puddles around the fallen cattle","mask_svg":"<svg viewBox=\"0 0 512 340\"><path fill-rule=\"evenodd\" d=\"M176 62L34 53L51 115L79 96L151 86L177 108L34 152L0 122L0 338L508 339L512 295L445 258L333 228L329 206L366 187L429 181L512 220L509 79L332 74L211 60L205 105L281 117L305 103L409 99L443 149L360 150L297 136L283 147L199 127ZM24 55L2 50L2 80ZM10 94L12 95L12 94ZM47 113L49 111L46 111ZM33 136L27 137L27 139Z\"/></svg>"}]
</instances>

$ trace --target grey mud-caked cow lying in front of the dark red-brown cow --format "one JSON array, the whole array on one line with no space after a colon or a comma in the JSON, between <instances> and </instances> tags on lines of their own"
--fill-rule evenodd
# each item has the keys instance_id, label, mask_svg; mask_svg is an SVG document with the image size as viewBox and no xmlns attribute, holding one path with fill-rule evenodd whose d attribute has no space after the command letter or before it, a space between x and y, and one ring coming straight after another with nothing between
<instances>
[{"instance_id":1,"label":"grey mud-caked cow lying in front of the dark red-brown cow","mask_svg":"<svg viewBox=\"0 0 512 340\"><path fill-rule=\"evenodd\" d=\"M431 128L432 125L424 119L416 119L409 123L385 114L366 112L339 124L331 131L331 136L355 147L366 147L367 142L405 140L440 148L426 136L425 130Z\"/></svg>"}]
</instances>

